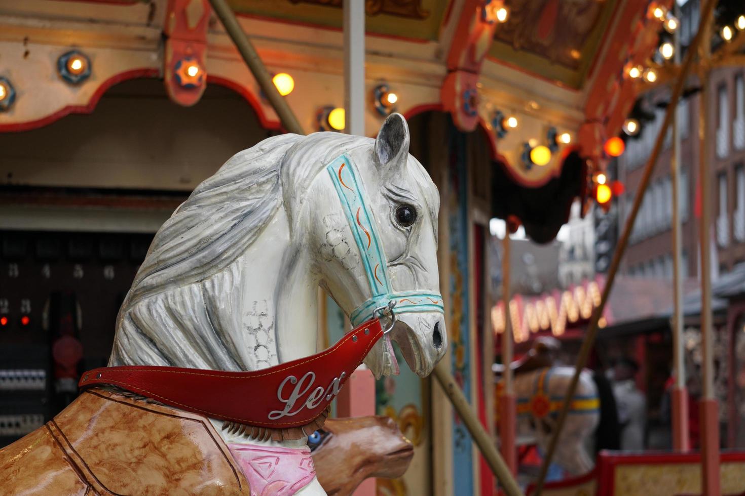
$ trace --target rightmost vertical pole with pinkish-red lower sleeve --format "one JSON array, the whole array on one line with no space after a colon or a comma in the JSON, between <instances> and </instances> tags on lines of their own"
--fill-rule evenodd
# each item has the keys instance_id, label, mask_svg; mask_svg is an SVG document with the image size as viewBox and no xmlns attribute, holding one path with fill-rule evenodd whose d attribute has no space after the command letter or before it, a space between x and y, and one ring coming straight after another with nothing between
<instances>
[{"instance_id":1,"label":"rightmost vertical pole with pinkish-red lower sleeve","mask_svg":"<svg viewBox=\"0 0 745 496\"><path fill-rule=\"evenodd\" d=\"M703 395L700 402L701 472L704 495L720 495L719 467L719 406L714 396L714 326L711 315L711 170L707 114L709 96L709 63L711 60L711 19L704 24L703 42L699 45L699 184L701 187L701 222L699 227L701 251L701 348L703 361Z\"/></svg>"}]
</instances>

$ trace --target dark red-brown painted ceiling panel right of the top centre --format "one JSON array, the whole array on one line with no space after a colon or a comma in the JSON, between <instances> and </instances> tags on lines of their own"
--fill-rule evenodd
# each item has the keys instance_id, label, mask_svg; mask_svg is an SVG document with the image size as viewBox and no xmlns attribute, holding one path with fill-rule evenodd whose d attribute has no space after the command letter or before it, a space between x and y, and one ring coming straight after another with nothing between
<instances>
[{"instance_id":1,"label":"dark red-brown painted ceiling panel right of the top centre","mask_svg":"<svg viewBox=\"0 0 745 496\"><path fill-rule=\"evenodd\" d=\"M489 57L580 88L618 0L505 0L510 17L495 30Z\"/></svg>"}]
</instances>

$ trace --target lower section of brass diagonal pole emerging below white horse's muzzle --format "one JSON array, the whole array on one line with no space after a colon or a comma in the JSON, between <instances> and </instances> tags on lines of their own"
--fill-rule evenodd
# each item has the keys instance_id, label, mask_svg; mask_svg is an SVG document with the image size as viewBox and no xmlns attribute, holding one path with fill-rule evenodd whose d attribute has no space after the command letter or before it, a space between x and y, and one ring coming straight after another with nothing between
<instances>
[{"instance_id":1,"label":"lower section of brass diagonal pole emerging below white horse's muzzle","mask_svg":"<svg viewBox=\"0 0 745 496\"><path fill-rule=\"evenodd\" d=\"M437 381L440 382L440 386L443 387L448 399L453 404L460 418L463 419L463 423L466 424L471 433L471 437L478 445L478 449L481 454L484 455L486 463L489 463L489 468L497 477L501 489L504 490L507 496L523 496L520 486L517 485L515 478L510 472L510 468L504 463L502 457L499 455L494 440L489 433L486 432L484 426L478 421L478 418L471 405L469 405L466 396L463 395L463 391L460 390L458 384L455 382L454 377L448 370L448 364L446 360L441 360L437 366L434 367L434 376ZM465 474L466 477L471 477L471 474Z\"/></svg>"}]
</instances>

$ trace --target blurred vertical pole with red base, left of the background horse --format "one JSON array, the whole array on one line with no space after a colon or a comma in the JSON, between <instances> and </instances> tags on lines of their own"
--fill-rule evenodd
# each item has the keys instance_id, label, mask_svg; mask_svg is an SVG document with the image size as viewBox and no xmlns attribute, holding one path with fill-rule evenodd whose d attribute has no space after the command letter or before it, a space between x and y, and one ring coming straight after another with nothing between
<instances>
[{"instance_id":1,"label":"blurred vertical pole with red base, left of the background horse","mask_svg":"<svg viewBox=\"0 0 745 496\"><path fill-rule=\"evenodd\" d=\"M501 442L504 463L513 474L517 473L517 456L515 451L516 399L513 371L510 363L513 360L513 329L510 319L510 228L504 222L504 239L502 240L502 304L504 306L504 332L502 333L502 394L499 398L499 441Z\"/></svg>"}]
</instances>

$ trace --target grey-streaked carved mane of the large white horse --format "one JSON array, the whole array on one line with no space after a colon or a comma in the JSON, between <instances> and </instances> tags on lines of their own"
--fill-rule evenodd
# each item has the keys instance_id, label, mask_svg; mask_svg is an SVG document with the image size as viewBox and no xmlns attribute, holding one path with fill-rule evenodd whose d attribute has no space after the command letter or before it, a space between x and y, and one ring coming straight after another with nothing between
<instances>
[{"instance_id":1,"label":"grey-streaked carved mane of the large white horse","mask_svg":"<svg viewBox=\"0 0 745 496\"><path fill-rule=\"evenodd\" d=\"M238 152L197 186L150 245L119 311L110 366L261 368L235 338L250 270L241 255L279 208L292 235L304 186L338 155L370 144L339 133L276 136Z\"/></svg>"}]
</instances>

